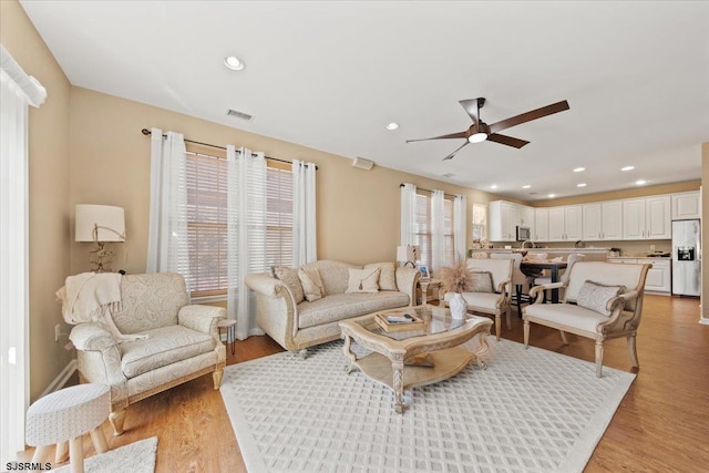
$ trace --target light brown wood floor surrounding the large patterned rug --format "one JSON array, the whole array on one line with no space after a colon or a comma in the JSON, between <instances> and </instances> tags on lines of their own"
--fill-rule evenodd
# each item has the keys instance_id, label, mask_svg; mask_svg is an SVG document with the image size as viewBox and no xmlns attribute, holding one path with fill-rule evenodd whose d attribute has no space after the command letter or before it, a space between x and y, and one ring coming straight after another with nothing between
<instances>
[{"instance_id":1,"label":"light brown wood floor surrounding the large patterned rug","mask_svg":"<svg viewBox=\"0 0 709 473\"><path fill-rule=\"evenodd\" d=\"M709 326L698 323L699 300L646 295L638 335L640 370L620 403L586 472L705 472L709 469ZM513 312L514 313L514 312ZM503 337L522 341L522 321ZM579 359L594 360L594 343L532 327L532 343ZM494 340L492 341L494 342ZM227 348L227 363L281 351L268 337ZM307 362L307 361L304 361ZM630 370L625 339L606 343L604 364ZM103 425L109 448L157 435L156 472L245 472L246 467L212 377L203 377L129 408L126 432L117 438ZM85 455L94 450L89 435ZM32 449L24 452L31 457ZM52 453L53 455L53 453ZM45 461L52 461L52 457Z\"/></svg>"}]
</instances>

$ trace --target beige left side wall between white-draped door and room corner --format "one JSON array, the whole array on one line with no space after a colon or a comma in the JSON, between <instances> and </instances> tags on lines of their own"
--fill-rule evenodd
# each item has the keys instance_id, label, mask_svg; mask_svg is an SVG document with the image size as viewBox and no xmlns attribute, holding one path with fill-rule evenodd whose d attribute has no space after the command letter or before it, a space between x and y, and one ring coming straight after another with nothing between
<instances>
[{"instance_id":1,"label":"beige left side wall between white-draped door and room corner","mask_svg":"<svg viewBox=\"0 0 709 473\"><path fill-rule=\"evenodd\" d=\"M30 107L30 398L33 401L66 367L66 337L54 291L69 274L70 84L17 1L0 1L0 42L47 89L40 109Z\"/></svg>"}]
</instances>

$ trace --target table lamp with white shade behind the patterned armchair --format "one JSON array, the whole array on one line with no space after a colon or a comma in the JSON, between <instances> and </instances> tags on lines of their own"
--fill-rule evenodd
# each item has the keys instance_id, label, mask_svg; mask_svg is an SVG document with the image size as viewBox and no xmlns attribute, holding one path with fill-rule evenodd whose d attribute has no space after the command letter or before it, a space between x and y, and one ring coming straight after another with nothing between
<instances>
[{"instance_id":1,"label":"table lamp with white shade behind the patterned armchair","mask_svg":"<svg viewBox=\"0 0 709 473\"><path fill-rule=\"evenodd\" d=\"M76 205L75 241L91 241L96 245L91 250L89 261L96 265L96 273L110 271L105 264L115 255L105 248L109 241L125 241L125 213L123 207L112 205Z\"/></svg>"}]
</instances>

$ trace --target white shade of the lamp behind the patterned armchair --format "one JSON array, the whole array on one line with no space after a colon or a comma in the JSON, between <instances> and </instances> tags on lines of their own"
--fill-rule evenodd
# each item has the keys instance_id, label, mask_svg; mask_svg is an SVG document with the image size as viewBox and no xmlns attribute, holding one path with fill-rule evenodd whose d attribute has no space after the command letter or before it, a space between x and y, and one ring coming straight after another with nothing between
<instances>
[{"instance_id":1,"label":"white shade of the lamp behind the patterned armchair","mask_svg":"<svg viewBox=\"0 0 709 473\"><path fill-rule=\"evenodd\" d=\"M125 241L123 207L82 204L76 206L75 218L75 241Z\"/></svg>"}]
</instances>

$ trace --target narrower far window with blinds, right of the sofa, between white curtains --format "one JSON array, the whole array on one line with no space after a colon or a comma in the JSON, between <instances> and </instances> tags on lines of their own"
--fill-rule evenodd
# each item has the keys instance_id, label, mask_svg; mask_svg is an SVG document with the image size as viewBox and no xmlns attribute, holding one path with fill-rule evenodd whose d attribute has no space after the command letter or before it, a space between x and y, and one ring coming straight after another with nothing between
<instances>
[{"instance_id":1,"label":"narrower far window with blinds, right of the sofa, between white curtains","mask_svg":"<svg viewBox=\"0 0 709 473\"><path fill-rule=\"evenodd\" d=\"M415 245L419 245L420 249L417 264L432 268L431 196L428 194L419 193L417 195L415 240ZM449 196L445 196L443 200L443 266L450 266L455 260L455 247L453 244L453 199Z\"/></svg>"}]
</instances>

